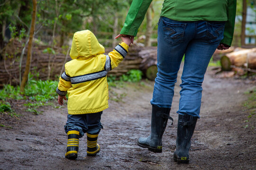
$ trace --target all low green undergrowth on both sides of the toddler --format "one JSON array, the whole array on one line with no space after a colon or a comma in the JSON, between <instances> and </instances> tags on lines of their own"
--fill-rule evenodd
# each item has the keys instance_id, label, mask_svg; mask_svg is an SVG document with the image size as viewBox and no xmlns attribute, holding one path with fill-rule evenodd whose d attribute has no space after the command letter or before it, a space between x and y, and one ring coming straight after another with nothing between
<instances>
[{"instance_id":1,"label":"all low green undergrowth on both sides of the toddler","mask_svg":"<svg viewBox=\"0 0 256 170\"><path fill-rule=\"evenodd\" d=\"M0 90L0 113L8 112L11 117L19 117L19 114L12 110L7 100L23 100L26 111L32 114L40 114L38 108L45 105L53 105L51 101L57 99L56 87L58 81L52 80L37 80L38 74L35 76L29 74L27 85L25 87L25 93L22 95L19 92L19 86L4 85ZM130 70L126 75L122 75L119 79L116 76L108 76L108 82L110 86L122 86L123 82L139 82L142 78L142 72L140 70ZM120 94L118 100L125 96Z\"/></svg>"}]
</instances>

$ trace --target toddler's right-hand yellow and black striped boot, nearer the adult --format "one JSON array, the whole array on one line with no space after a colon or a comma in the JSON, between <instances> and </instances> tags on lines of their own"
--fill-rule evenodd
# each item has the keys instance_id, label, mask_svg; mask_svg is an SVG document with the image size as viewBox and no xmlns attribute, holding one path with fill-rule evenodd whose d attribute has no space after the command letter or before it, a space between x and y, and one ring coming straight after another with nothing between
<instances>
[{"instance_id":1,"label":"toddler's right-hand yellow and black striped boot, nearer the adult","mask_svg":"<svg viewBox=\"0 0 256 170\"><path fill-rule=\"evenodd\" d=\"M98 135L99 133L87 133L87 156L95 156L97 153L100 152L100 145L97 144Z\"/></svg>"}]
</instances>

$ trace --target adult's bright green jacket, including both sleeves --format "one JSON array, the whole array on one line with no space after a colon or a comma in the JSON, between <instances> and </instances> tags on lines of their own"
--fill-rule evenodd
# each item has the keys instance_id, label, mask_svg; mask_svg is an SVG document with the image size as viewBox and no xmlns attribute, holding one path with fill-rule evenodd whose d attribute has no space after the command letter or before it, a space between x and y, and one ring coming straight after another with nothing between
<instances>
[{"instance_id":1,"label":"adult's bright green jacket, including both sleeves","mask_svg":"<svg viewBox=\"0 0 256 170\"><path fill-rule=\"evenodd\" d=\"M152 0L133 0L120 34L137 35ZM222 43L231 45L237 0L165 0L160 17L176 21L226 21Z\"/></svg>"}]
</instances>

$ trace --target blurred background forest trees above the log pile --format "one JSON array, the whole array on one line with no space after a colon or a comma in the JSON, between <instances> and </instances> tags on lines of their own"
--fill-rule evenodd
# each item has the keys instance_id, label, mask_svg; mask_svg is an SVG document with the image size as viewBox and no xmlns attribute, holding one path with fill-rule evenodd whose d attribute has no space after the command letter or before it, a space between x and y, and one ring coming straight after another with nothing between
<instances>
[{"instance_id":1,"label":"blurred background forest trees above the log pile","mask_svg":"<svg viewBox=\"0 0 256 170\"><path fill-rule=\"evenodd\" d=\"M156 45L157 21L163 1L152 1L146 18L139 28L137 37L145 35L146 32L151 33L150 39L145 37L146 41L142 41L146 46ZM256 13L255 1L237 1L235 36L241 36L245 9L251 8L244 17L254 18L252 15ZM62 47L68 44L74 32L89 29L96 34L104 46L111 47L116 44L113 37L121 30L131 2L132 0L38 0L35 38L41 43ZM247 4L244 10L243 4ZM32 8L32 0L0 0L0 49L10 38L18 37L21 40L28 37ZM256 21L249 22L252 25L256 23ZM151 26L149 27L148 24ZM251 32L250 34L255 34L254 29L254 26L247 26L243 33L247 30ZM236 45L241 45L241 42L237 40Z\"/></svg>"}]
</instances>

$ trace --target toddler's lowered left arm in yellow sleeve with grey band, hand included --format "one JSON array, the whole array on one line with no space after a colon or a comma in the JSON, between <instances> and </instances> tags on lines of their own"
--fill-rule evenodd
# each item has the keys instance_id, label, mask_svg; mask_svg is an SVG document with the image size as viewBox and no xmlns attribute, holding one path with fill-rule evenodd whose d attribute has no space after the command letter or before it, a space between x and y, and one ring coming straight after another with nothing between
<instances>
[{"instance_id":1,"label":"toddler's lowered left arm in yellow sleeve with grey band, hand included","mask_svg":"<svg viewBox=\"0 0 256 170\"><path fill-rule=\"evenodd\" d=\"M66 99L67 90L72 87L70 82L70 76L66 74L66 71L60 76L59 78L59 84L56 89L56 93L59 94L58 96L58 103L60 105L63 105L63 99Z\"/></svg>"}]
</instances>

